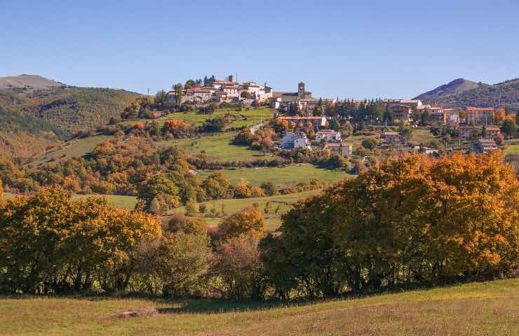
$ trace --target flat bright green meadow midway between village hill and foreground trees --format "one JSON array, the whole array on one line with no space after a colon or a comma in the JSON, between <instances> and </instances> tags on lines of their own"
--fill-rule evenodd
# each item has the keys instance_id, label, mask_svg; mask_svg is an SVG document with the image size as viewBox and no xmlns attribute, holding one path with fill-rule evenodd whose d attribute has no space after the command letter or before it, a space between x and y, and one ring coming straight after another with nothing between
<instances>
[{"instance_id":1,"label":"flat bright green meadow midway between village hill and foreground trees","mask_svg":"<svg viewBox=\"0 0 519 336\"><path fill-rule=\"evenodd\" d=\"M300 181L309 181L316 177L325 181L335 182L350 176L340 170L318 168L311 164L295 164L288 167L255 167L225 169L224 173L229 177L231 183L237 183L241 179L248 180L253 186L259 186L265 181L271 181L276 186L295 185ZM204 178L210 172L199 172Z\"/></svg>"}]
</instances>

